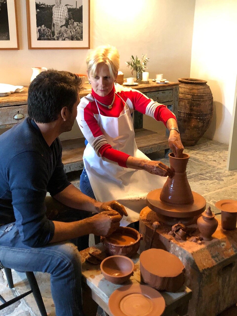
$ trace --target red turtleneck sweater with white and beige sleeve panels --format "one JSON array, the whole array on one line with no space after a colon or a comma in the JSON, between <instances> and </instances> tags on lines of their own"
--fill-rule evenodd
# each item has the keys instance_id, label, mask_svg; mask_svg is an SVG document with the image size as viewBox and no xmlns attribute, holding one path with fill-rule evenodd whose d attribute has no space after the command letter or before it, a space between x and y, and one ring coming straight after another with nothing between
<instances>
[{"instance_id":1,"label":"red turtleneck sweater with white and beige sleeve panels","mask_svg":"<svg viewBox=\"0 0 237 316\"><path fill-rule=\"evenodd\" d=\"M114 161L115 163L118 163L119 166L126 167L126 161L129 155L127 153L113 149L112 146L106 141L106 138L97 123L99 112L94 99L100 101L103 104L110 105L113 100L115 89L116 93L119 94L119 96L129 106L130 113L132 113L134 110L137 110L138 112L153 117L157 121L162 121L165 125L168 119L176 119L176 117L170 110L167 109L165 105L149 99L147 96L137 90L125 88L119 84L113 87L112 91L104 97L99 96L93 90L91 94L83 97L77 108L76 119L84 137L94 148L97 155ZM108 109L97 102L100 114L109 117L119 117L125 106L124 102L119 98L119 96L115 94L115 100L112 109Z\"/></svg>"}]
</instances>

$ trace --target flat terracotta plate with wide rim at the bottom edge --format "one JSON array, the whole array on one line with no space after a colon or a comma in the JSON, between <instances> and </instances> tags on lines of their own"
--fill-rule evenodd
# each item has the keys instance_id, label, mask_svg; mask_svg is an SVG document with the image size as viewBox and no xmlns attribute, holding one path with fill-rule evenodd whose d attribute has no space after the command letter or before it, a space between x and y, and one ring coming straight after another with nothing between
<instances>
[{"instance_id":1,"label":"flat terracotta plate with wide rim at the bottom edge","mask_svg":"<svg viewBox=\"0 0 237 316\"><path fill-rule=\"evenodd\" d=\"M160 316L165 310L163 296L141 284L125 285L115 290L108 305L114 316Z\"/></svg>"}]
</instances>

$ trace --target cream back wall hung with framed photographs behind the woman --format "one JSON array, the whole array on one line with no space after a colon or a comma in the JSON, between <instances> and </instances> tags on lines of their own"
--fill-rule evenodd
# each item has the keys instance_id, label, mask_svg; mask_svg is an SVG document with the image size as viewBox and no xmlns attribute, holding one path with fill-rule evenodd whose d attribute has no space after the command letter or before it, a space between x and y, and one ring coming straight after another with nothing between
<instances>
[{"instance_id":1,"label":"cream back wall hung with framed photographs behind the woman","mask_svg":"<svg viewBox=\"0 0 237 316\"><path fill-rule=\"evenodd\" d=\"M150 78L156 73L163 73L170 81L188 77L194 8L195 0L91 0L90 47L116 46L125 78L131 76L125 62L132 54L141 57L142 53L150 58L147 70ZM1 83L28 85L33 66L85 73L86 49L28 50L25 0L17 0L17 10L20 50L0 51ZM146 127L157 128L156 125ZM74 125L61 139L78 135L82 134Z\"/></svg>"}]
</instances>

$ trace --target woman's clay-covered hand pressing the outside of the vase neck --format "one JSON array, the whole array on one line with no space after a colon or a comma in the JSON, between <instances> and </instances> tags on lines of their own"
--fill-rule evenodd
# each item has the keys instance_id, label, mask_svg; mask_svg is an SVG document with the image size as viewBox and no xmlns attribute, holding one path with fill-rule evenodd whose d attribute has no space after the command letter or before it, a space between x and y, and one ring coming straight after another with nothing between
<instances>
[{"instance_id":1,"label":"woman's clay-covered hand pressing the outside of the vase neck","mask_svg":"<svg viewBox=\"0 0 237 316\"><path fill-rule=\"evenodd\" d=\"M151 174L157 174L161 177L173 177L173 171L161 161L142 160L140 166Z\"/></svg>"}]
</instances>

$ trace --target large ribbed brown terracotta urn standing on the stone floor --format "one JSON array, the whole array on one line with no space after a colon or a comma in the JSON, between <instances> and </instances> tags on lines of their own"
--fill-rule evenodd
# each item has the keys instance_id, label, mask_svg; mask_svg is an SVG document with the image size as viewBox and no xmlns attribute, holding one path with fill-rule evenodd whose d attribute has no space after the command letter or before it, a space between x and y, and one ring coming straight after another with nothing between
<instances>
[{"instance_id":1,"label":"large ribbed brown terracotta urn standing on the stone floor","mask_svg":"<svg viewBox=\"0 0 237 316\"><path fill-rule=\"evenodd\" d=\"M178 126L184 146L193 146L208 129L213 116L213 97L207 81L179 78Z\"/></svg>"}]
</instances>

